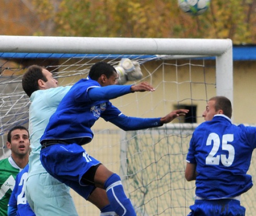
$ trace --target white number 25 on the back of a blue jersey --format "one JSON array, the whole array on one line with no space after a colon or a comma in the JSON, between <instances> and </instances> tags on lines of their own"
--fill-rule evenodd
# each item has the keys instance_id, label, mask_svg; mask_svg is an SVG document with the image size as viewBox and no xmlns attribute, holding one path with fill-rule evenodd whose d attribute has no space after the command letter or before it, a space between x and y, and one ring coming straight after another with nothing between
<instances>
[{"instance_id":1,"label":"white number 25 on the back of a blue jersey","mask_svg":"<svg viewBox=\"0 0 256 216\"><path fill-rule=\"evenodd\" d=\"M206 146L210 146L213 143L213 148L206 157L205 163L208 165L219 165L220 160L225 167L231 166L235 158L235 148L228 144L228 142L232 141L234 141L234 134L224 134L222 137L222 150L227 150L228 155L216 155L220 146L220 138L218 134L211 133L207 138Z\"/></svg>"}]
</instances>

